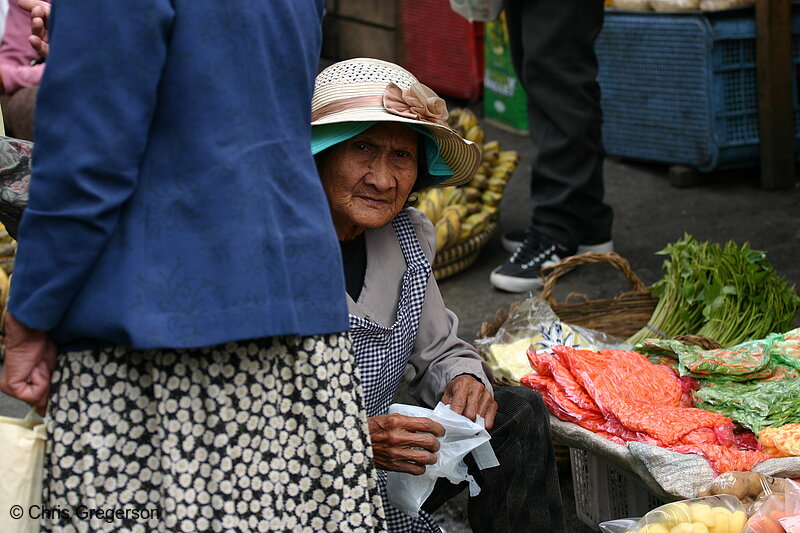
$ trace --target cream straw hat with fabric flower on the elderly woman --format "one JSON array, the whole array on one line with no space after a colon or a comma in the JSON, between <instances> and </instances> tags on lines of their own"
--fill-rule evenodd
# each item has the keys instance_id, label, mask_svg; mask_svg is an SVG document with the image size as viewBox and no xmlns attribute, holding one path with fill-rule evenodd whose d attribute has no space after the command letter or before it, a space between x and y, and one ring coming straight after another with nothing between
<instances>
[{"instance_id":1,"label":"cream straw hat with fabric flower on the elderly woman","mask_svg":"<svg viewBox=\"0 0 800 533\"><path fill-rule=\"evenodd\" d=\"M311 101L311 125L401 122L422 126L439 144L453 176L437 187L461 185L481 164L481 149L447 125L444 100L406 69L379 59L334 63L319 73Z\"/></svg>"}]
</instances>

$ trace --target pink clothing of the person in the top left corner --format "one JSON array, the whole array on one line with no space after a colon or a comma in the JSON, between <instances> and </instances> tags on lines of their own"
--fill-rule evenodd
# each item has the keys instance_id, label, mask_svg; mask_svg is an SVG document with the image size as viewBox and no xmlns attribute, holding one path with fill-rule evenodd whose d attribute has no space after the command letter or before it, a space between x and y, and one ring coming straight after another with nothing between
<instances>
[{"instance_id":1,"label":"pink clothing of the person in the top left corner","mask_svg":"<svg viewBox=\"0 0 800 533\"><path fill-rule=\"evenodd\" d=\"M28 43L30 34L30 14L19 7L17 0L8 0L6 30L0 42L0 80L5 93L34 87L42 78L44 64L30 65L39 57Z\"/></svg>"}]
</instances>

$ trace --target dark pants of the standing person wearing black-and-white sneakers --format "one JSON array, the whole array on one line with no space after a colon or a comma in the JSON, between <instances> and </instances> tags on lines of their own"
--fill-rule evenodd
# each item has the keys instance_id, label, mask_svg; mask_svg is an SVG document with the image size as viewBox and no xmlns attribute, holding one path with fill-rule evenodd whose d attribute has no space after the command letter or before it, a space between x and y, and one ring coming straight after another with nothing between
<instances>
[{"instance_id":1,"label":"dark pants of the standing person wearing black-and-white sneakers","mask_svg":"<svg viewBox=\"0 0 800 533\"><path fill-rule=\"evenodd\" d=\"M506 0L511 56L528 96L533 227L570 251L611 239L603 203L601 0Z\"/></svg>"}]
</instances>

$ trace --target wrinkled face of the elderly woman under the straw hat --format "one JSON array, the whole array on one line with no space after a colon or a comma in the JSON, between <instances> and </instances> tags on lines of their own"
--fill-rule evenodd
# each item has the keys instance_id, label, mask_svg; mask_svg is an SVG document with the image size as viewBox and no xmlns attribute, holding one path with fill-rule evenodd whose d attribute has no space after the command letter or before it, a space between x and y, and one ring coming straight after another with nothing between
<instances>
[{"instance_id":1,"label":"wrinkled face of the elderly woman under the straw hat","mask_svg":"<svg viewBox=\"0 0 800 533\"><path fill-rule=\"evenodd\" d=\"M400 212L417 181L419 134L379 122L328 149L320 163L339 240L379 228Z\"/></svg>"}]
</instances>

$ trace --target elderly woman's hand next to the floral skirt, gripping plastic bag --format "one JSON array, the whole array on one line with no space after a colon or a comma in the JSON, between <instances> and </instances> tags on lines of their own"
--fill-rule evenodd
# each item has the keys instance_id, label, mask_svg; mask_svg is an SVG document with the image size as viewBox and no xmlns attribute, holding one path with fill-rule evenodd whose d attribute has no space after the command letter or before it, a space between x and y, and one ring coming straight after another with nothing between
<instances>
[{"instance_id":1,"label":"elderly woman's hand next to the floral skirt, gripping plastic bag","mask_svg":"<svg viewBox=\"0 0 800 533\"><path fill-rule=\"evenodd\" d=\"M444 428L430 418L398 414L368 419L375 464L383 470L420 475L436 463Z\"/></svg>"}]
</instances>

